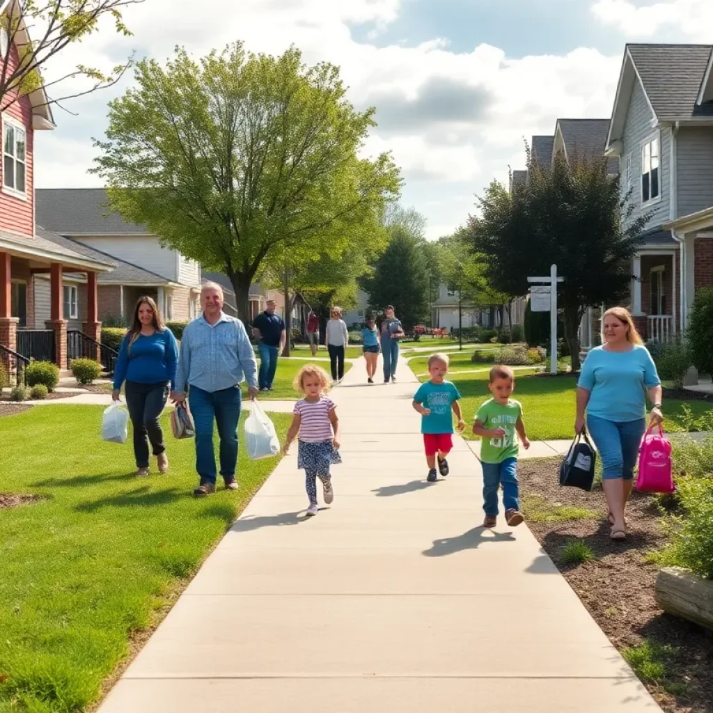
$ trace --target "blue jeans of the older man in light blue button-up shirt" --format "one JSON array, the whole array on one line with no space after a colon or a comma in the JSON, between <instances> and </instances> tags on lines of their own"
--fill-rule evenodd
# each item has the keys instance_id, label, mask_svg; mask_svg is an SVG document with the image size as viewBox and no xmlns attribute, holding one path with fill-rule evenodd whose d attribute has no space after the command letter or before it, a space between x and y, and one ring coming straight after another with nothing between
<instances>
[{"instance_id":1,"label":"blue jeans of the older man in light blue button-up shirt","mask_svg":"<svg viewBox=\"0 0 713 713\"><path fill-rule=\"evenodd\" d=\"M226 483L235 480L237 466L237 422L240 420L240 387L221 391L203 391L191 386L188 392L190 412L195 424L195 469L200 484L215 485L215 448L213 421L220 438L220 475Z\"/></svg>"}]
</instances>

